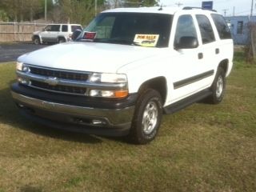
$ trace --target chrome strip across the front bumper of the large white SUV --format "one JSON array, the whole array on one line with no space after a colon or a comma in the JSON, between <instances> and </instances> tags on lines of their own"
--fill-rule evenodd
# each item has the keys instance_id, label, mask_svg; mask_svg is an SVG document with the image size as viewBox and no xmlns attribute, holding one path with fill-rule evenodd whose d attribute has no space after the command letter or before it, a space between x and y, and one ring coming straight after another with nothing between
<instances>
[{"instance_id":1,"label":"chrome strip across the front bumper of the large white SUV","mask_svg":"<svg viewBox=\"0 0 256 192\"><path fill-rule=\"evenodd\" d=\"M19 105L29 106L32 109L46 110L58 114L94 119L105 119L106 126L130 124L134 115L134 106L124 109L95 109L82 106L70 106L56 102L46 102L38 98L30 98L11 91L12 97Z\"/></svg>"}]
</instances>

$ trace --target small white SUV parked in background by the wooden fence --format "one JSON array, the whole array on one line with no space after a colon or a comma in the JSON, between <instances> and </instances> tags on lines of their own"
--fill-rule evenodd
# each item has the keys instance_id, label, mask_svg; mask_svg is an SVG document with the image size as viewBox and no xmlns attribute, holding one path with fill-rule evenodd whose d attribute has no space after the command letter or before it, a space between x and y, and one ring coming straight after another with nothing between
<instances>
[{"instance_id":1,"label":"small white SUV parked in background by the wooden fence","mask_svg":"<svg viewBox=\"0 0 256 192\"><path fill-rule=\"evenodd\" d=\"M38 45L44 42L68 42L75 30L82 30L78 24L50 24L42 31L33 33L32 41Z\"/></svg>"}]
</instances>

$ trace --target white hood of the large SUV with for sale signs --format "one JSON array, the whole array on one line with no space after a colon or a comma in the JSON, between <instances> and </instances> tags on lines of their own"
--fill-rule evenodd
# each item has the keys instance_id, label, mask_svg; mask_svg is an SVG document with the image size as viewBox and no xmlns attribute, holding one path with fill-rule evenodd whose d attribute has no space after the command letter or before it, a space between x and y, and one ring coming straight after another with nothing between
<instances>
[{"instance_id":1,"label":"white hood of the large SUV with for sale signs","mask_svg":"<svg viewBox=\"0 0 256 192\"><path fill-rule=\"evenodd\" d=\"M159 48L98 42L67 42L48 46L18 58L19 62L65 70L116 73L131 62L154 57Z\"/></svg>"}]
</instances>

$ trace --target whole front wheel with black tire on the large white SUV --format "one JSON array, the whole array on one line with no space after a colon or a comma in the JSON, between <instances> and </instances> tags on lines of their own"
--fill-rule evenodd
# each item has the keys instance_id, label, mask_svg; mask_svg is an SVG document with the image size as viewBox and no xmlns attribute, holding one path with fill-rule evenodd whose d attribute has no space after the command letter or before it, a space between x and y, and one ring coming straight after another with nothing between
<instances>
[{"instance_id":1,"label":"whole front wheel with black tire on the large white SUV","mask_svg":"<svg viewBox=\"0 0 256 192\"><path fill-rule=\"evenodd\" d=\"M144 90L138 97L130 130L135 144L146 144L158 134L162 119L162 98L156 90Z\"/></svg>"}]
</instances>

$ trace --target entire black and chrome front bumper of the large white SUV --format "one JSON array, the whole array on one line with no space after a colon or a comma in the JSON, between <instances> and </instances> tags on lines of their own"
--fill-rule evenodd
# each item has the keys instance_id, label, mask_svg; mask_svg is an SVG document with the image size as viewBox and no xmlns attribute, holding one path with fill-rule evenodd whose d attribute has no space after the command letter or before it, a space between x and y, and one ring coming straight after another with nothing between
<instances>
[{"instance_id":1,"label":"entire black and chrome front bumper of the large white SUV","mask_svg":"<svg viewBox=\"0 0 256 192\"><path fill-rule=\"evenodd\" d=\"M46 95L40 98L39 95L42 95L40 92ZM132 97L132 102L131 99L119 102L105 101L102 102L104 105L99 105L97 101L94 101L94 104L90 99L90 105L86 106L86 102L78 105L74 102L74 96L70 96L70 102L68 102L67 98L62 99L57 97L58 95L33 90L17 83L12 85L11 94L22 114L31 120L55 128L108 136L129 134L134 115L133 103L136 98Z\"/></svg>"}]
</instances>

